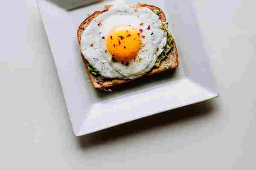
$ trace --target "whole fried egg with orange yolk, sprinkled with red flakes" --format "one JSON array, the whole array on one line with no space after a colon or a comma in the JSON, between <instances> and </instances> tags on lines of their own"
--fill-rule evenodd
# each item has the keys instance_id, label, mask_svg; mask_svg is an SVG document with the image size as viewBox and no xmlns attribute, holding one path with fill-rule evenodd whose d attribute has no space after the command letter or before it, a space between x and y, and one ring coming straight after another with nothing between
<instances>
[{"instance_id":1,"label":"whole fried egg with orange yolk, sprinkled with red flakes","mask_svg":"<svg viewBox=\"0 0 256 170\"><path fill-rule=\"evenodd\" d=\"M93 19L81 36L81 52L99 74L134 79L150 71L166 45L162 22L148 8L113 6Z\"/></svg>"}]
</instances>

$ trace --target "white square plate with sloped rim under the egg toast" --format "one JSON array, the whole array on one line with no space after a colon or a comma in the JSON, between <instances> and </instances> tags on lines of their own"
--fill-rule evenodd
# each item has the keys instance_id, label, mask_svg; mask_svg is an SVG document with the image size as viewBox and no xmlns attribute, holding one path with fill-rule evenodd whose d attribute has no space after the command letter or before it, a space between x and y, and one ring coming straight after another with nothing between
<instances>
[{"instance_id":1,"label":"white square plate with sloped rim under the egg toast","mask_svg":"<svg viewBox=\"0 0 256 170\"><path fill-rule=\"evenodd\" d=\"M189 0L140 0L163 9L177 43L180 68L173 74L145 77L114 89L96 91L88 83L76 31L87 14L101 11L104 1L66 11L37 0L76 136L218 96L212 81L194 9ZM136 4L138 0L127 0Z\"/></svg>"}]
</instances>

